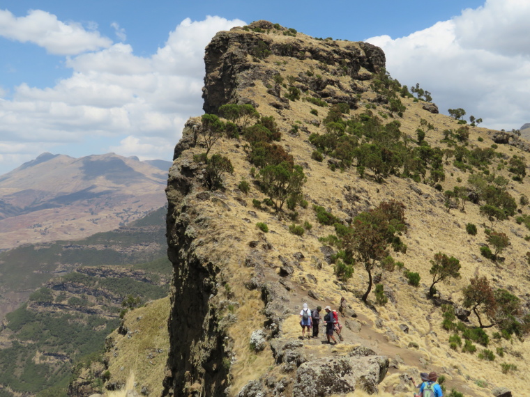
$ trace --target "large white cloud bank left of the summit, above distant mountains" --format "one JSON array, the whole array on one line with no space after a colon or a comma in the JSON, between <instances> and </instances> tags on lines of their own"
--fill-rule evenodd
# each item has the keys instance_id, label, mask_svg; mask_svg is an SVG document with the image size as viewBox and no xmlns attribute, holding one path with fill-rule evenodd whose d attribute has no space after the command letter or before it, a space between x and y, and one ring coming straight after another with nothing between
<instances>
[{"instance_id":1,"label":"large white cloud bank left of the summit, above distant mountains","mask_svg":"<svg viewBox=\"0 0 530 397\"><path fill-rule=\"evenodd\" d=\"M171 159L185 120L202 114L204 47L218 31L244 24L221 17L185 19L151 56L136 56L123 42L67 56L70 77L48 88L20 84L10 100L0 99L0 167L8 171L5 162L15 157L6 157L5 148L15 142L32 148L34 158L64 143L100 137L121 140L102 150Z\"/></svg>"}]
</instances>

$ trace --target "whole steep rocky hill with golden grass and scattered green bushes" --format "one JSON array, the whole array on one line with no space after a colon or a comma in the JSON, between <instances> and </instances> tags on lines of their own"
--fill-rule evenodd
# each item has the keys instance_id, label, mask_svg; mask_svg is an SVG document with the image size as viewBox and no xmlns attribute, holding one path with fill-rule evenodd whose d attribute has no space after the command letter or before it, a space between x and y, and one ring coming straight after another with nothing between
<instances>
[{"instance_id":1,"label":"whole steep rocky hill with golden grass and scattered green bushes","mask_svg":"<svg viewBox=\"0 0 530 397\"><path fill-rule=\"evenodd\" d=\"M259 21L218 33L205 64L206 115L185 124L166 190L174 277L163 395L399 396L425 368L466 396L518 384L493 367L480 367L487 387L468 382L480 363L450 345L447 329L474 329L462 289L476 275L527 302L530 246L511 239L506 267L481 257L487 198L476 183L466 192L482 197L478 204L442 192L468 186L471 169L485 183L494 170L507 177L503 155L524 152L502 146L496 155L487 130L428 110L367 43ZM530 194L505 179L515 194ZM507 198L508 188L497 188ZM497 203L506 213L508 201ZM388 218L395 229L369 269L347 233L378 208L398 207L401 223ZM495 230L524 237L513 215L497 219ZM469 234L468 223L480 233ZM439 251L462 268L433 294L430 261ZM323 322L318 338L302 339L303 304L337 309L341 297L344 341L326 343ZM442 325L446 313L462 325ZM494 343L507 362L528 355L515 336L513 345Z\"/></svg>"}]
</instances>

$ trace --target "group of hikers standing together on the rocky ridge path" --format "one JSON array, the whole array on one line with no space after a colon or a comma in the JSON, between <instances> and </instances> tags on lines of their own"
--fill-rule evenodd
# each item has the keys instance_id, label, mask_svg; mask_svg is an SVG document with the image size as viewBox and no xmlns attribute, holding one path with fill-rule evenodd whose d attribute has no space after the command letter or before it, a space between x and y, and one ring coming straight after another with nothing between
<instances>
[{"instance_id":1,"label":"group of hikers standing together on the rocky ridge path","mask_svg":"<svg viewBox=\"0 0 530 397\"><path fill-rule=\"evenodd\" d=\"M340 301L340 313L344 317L344 306L346 304L346 299L342 298ZM318 338L319 336L319 325L320 325L320 312L322 310L321 306L317 306L317 309L310 310L308 304L303 304L303 309L300 312L300 325L302 326L302 339L305 338L305 330L308 330L308 339L311 337L309 330L312 329L312 337ZM331 343L331 340L337 344L335 339L335 333L337 334L340 341L343 341L340 331L342 330L342 325L339 322L339 316L337 311L331 310L330 306L324 307L326 315L324 316L324 327L326 327L326 338L328 343Z\"/></svg>"}]
</instances>

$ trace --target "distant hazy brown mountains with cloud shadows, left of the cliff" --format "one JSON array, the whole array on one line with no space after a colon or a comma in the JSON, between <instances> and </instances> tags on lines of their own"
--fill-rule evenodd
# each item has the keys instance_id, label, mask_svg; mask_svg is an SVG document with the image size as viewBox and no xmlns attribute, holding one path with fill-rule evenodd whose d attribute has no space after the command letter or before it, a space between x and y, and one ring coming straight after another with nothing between
<instances>
[{"instance_id":1,"label":"distant hazy brown mountains with cloud shadows, left of the cliff","mask_svg":"<svg viewBox=\"0 0 530 397\"><path fill-rule=\"evenodd\" d=\"M171 162L43 153L0 176L0 249L75 240L160 208Z\"/></svg>"}]
</instances>

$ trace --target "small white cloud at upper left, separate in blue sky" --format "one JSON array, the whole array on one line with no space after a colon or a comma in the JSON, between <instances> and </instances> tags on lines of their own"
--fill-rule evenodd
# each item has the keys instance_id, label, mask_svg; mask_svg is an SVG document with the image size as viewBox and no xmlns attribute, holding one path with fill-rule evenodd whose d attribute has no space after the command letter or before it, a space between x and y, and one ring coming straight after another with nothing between
<instances>
[{"instance_id":1,"label":"small white cloud at upper left, separate in blue sky","mask_svg":"<svg viewBox=\"0 0 530 397\"><path fill-rule=\"evenodd\" d=\"M0 10L0 36L20 42L33 42L50 54L72 55L96 51L112 45L97 31L86 31L75 22L65 23L43 10L30 10L26 17L15 17Z\"/></svg>"}]
</instances>

